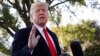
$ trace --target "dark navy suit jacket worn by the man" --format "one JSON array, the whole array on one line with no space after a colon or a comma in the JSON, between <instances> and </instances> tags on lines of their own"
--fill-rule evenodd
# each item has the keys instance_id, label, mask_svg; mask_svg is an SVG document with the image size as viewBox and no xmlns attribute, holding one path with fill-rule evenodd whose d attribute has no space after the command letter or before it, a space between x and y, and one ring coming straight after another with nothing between
<instances>
[{"instance_id":1,"label":"dark navy suit jacket worn by the man","mask_svg":"<svg viewBox=\"0 0 100 56\"><path fill-rule=\"evenodd\" d=\"M30 54L29 48L28 48L28 37L31 31L31 28L32 26L29 28L18 30L15 33L14 41L12 43L12 56L50 56L49 48L43 36L40 34L38 30L36 30L35 35L36 36L40 35L40 39L37 46L34 48L32 55ZM49 29L47 29L47 31L49 32L49 34L51 35L55 43L57 54L60 55L61 49L57 40L57 36L53 32L51 32Z\"/></svg>"}]
</instances>

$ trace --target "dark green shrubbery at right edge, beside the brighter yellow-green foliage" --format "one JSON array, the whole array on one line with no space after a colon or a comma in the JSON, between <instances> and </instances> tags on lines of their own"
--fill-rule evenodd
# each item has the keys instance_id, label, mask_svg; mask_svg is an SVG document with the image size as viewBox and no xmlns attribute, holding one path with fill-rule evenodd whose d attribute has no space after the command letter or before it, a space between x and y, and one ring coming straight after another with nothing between
<instances>
[{"instance_id":1,"label":"dark green shrubbery at right edge, beside the brighter yellow-green foliage","mask_svg":"<svg viewBox=\"0 0 100 56\"><path fill-rule=\"evenodd\" d=\"M84 53L85 56L99 56L100 55L100 26L96 25L95 22L91 23L92 27L95 27L95 36L94 40L91 41L91 45L89 45Z\"/></svg>"}]
</instances>

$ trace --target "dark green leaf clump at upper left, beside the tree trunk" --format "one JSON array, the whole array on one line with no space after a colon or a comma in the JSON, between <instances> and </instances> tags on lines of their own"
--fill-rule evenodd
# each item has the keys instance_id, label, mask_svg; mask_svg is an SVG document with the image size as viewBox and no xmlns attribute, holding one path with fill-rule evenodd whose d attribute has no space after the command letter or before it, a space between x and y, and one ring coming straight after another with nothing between
<instances>
[{"instance_id":1,"label":"dark green leaf clump at upper left, beside the tree trunk","mask_svg":"<svg viewBox=\"0 0 100 56\"><path fill-rule=\"evenodd\" d=\"M9 7L6 5L3 5L3 10L2 10L3 16L3 27L14 27L16 24L15 18L9 13Z\"/></svg>"}]
</instances>

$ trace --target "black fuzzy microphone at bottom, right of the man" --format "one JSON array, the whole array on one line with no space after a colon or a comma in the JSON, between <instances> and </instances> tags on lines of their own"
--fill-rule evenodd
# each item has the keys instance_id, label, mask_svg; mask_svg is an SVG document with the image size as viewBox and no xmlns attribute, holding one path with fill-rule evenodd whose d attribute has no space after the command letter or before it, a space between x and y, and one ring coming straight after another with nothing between
<instances>
[{"instance_id":1,"label":"black fuzzy microphone at bottom, right of the man","mask_svg":"<svg viewBox=\"0 0 100 56\"><path fill-rule=\"evenodd\" d=\"M84 56L81 45L78 41L71 41L70 47L71 47L73 56Z\"/></svg>"}]
</instances>

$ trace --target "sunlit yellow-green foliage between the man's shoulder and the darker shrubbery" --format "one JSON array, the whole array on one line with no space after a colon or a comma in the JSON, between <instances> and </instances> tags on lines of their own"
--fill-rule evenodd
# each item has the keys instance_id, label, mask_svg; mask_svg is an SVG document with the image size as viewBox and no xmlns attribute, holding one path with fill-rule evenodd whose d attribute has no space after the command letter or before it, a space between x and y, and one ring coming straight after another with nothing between
<instances>
[{"instance_id":1,"label":"sunlit yellow-green foliage between the man's shoulder and the darker shrubbery","mask_svg":"<svg viewBox=\"0 0 100 56\"><path fill-rule=\"evenodd\" d=\"M60 26L52 29L58 36L62 49L69 46L72 40L78 40L82 43L92 41L95 36L95 28L90 27L90 23L82 22L82 24ZM66 46L67 45L67 46Z\"/></svg>"}]
</instances>

